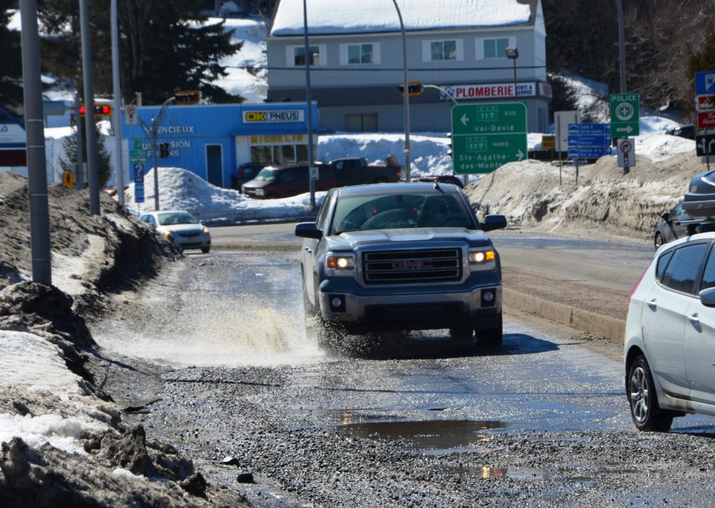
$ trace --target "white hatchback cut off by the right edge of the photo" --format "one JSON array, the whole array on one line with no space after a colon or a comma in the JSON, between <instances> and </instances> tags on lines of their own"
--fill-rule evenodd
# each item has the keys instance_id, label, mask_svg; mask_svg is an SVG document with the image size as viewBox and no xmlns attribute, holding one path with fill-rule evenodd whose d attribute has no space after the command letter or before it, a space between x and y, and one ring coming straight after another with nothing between
<instances>
[{"instance_id":1,"label":"white hatchback cut off by the right edge of the photo","mask_svg":"<svg viewBox=\"0 0 715 508\"><path fill-rule=\"evenodd\" d=\"M715 233L661 246L628 303L626 394L639 430L715 416Z\"/></svg>"}]
</instances>

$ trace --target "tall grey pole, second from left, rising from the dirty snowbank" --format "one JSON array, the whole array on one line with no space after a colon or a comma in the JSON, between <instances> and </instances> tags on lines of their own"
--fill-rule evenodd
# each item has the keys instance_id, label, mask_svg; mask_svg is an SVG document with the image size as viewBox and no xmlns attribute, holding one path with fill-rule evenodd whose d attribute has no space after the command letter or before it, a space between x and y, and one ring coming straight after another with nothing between
<instances>
[{"instance_id":1,"label":"tall grey pole, second from left, rising from the dirty snowbank","mask_svg":"<svg viewBox=\"0 0 715 508\"><path fill-rule=\"evenodd\" d=\"M82 75L84 76L84 128L87 129L87 180L89 213L99 215L99 171L97 169L97 127L94 123L92 85L92 44L89 40L89 0L79 0L79 26L82 32Z\"/></svg>"}]
</instances>

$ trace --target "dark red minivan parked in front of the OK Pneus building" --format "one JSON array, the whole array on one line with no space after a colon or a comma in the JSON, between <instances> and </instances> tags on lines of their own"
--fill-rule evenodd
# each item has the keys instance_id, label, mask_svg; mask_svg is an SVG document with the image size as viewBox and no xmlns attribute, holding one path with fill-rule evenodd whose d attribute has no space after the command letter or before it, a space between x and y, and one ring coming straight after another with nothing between
<instances>
[{"instance_id":1,"label":"dark red minivan parked in front of the OK Pneus building","mask_svg":"<svg viewBox=\"0 0 715 508\"><path fill-rule=\"evenodd\" d=\"M319 178L315 182L315 190L327 191L335 186L330 166L316 163ZM255 179L241 186L241 193L258 199L275 199L297 196L310 190L310 179L307 164L292 164L282 166L266 166L261 169Z\"/></svg>"}]
</instances>

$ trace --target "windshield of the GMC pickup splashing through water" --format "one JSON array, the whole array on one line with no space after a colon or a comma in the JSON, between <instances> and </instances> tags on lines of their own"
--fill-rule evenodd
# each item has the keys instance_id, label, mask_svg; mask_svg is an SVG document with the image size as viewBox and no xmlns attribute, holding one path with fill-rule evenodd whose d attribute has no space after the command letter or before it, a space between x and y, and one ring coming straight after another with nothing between
<instances>
[{"instance_id":1,"label":"windshield of the GMC pickup splashing through water","mask_svg":"<svg viewBox=\"0 0 715 508\"><path fill-rule=\"evenodd\" d=\"M461 227L475 229L467 207L453 194L340 197L331 234L371 229Z\"/></svg>"}]
</instances>

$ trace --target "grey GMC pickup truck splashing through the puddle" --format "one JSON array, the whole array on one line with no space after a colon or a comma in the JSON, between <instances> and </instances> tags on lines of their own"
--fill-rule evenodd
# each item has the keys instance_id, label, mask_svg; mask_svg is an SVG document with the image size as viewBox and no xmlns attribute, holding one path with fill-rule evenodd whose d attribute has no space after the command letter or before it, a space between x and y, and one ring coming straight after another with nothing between
<instances>
[{"instance_id":1,"label":"grey GMC pickup truck splashing through the puddle","mask_svg":"<svg viewBox=\"0 0 715 508\"><path fill-rule=\"evenodd\" d=\"M331 189L303 238L306 329L322 345L344 334L449 329L455 342L501 347L499 256L453 184L397 183Z\"/></svg>"}]
</instances>

